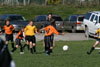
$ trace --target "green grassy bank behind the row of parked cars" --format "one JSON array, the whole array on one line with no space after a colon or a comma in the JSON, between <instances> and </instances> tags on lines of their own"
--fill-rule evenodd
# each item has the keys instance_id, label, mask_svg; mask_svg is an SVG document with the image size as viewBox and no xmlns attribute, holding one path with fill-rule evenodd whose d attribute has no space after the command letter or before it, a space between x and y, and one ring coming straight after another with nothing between
<instances>
[{"instance_id":1,"label":"green grassy bank behind the row of parked cars","mask_svg":"<svg viewBox=\"0 0 100 67\"><path fill-rule=\"evenodd\" d=\"M27 20L34 19L37 15L48 14L52 12L53 14L58 14L65 18L72 14L86 14L88 11L99 11L100 7L77 7L68 5L58 5L58 6L44 6L44 5L30 5L30 6L0 6L0 15L2 14L21 14Z\"/></svg>"}]
</instances>

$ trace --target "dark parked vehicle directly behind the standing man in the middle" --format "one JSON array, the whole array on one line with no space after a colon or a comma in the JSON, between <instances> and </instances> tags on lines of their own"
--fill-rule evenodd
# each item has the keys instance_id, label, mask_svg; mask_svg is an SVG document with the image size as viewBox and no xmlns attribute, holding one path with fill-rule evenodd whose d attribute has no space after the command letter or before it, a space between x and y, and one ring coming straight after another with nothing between
<instances>
[{"instance_id":1,"label":"dark parked vehicle directly behind the standing man in the middle","mask_svg":"<svg viewBox=\"0 0 100 67\"><path fill-rule=\"evenodd\" d=\"M35 25L37 26L38 30L44 27L44 24L46 23L46 18L47 18L47 15L36 16L34 22L35 22ZM52 18L56 20L57 30L62 30L63 29L62 18L58 15L53 15Z\"/></svg>"}]
</instances>

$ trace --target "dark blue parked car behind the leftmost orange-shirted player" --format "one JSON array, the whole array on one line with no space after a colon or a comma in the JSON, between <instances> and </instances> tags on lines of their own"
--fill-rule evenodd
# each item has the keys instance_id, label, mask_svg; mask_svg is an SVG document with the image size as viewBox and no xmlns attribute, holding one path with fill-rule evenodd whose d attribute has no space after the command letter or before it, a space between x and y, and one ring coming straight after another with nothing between
<instances>
[{"instance_id":1,"label":"dark blue parked car behind the leftmost orange-shirted player","mask_svg":"<svg viewBox=\"0 0 100 67\"><path fill-rule=\"evenodd\" d=\"M0 16L0 27L5 25L5 20L8 19L10 21L10 24L12 24L15 28L15 31L18 31L21 27L25 27L28 22L25 20L25 18L18 14L3 14Z\"/></svg>"}]
</instances>

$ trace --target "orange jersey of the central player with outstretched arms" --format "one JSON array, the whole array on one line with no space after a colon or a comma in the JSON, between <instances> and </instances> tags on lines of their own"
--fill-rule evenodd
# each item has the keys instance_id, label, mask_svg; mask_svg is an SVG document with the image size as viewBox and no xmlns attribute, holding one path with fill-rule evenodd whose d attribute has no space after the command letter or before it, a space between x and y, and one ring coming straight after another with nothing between
<instances>
[{"instance_id":1,"label":"orange jersey of the central player with outstretched arms","mask_svg":"<svg viewBox=\"0 0 100 67\"><path fill-rule=\"evenodd\" d=\"M59 32L52 26L52 25L49 25L45 28L43 28L46 33L45 33L45 36L51 36L52 34L59 34Z\"/></svg>"}]
</instances>

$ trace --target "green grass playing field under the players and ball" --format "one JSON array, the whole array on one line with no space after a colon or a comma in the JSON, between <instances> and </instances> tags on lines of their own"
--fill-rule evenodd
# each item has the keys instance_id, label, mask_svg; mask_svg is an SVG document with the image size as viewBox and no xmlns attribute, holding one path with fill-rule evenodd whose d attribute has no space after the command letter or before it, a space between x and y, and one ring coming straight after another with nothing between
<instances>
[{"instance_id":1,"label":"green grass playing field under the players and ball","mask_svg":"<svg viewBox=\"0 0 100 67\"><path fill-rule=\"evenodd\" d=\"M100 54L95 50L91 55L86 52L95 40L88 41L57 41L53 53L46 56L43 53L42 41L37 42L37 53L30 54L27 48L25 54L20 55L19 49L12 55L16 67L99 67ZM69 46L63 51L63 45Z\"/></svg>"}]
</instances>

